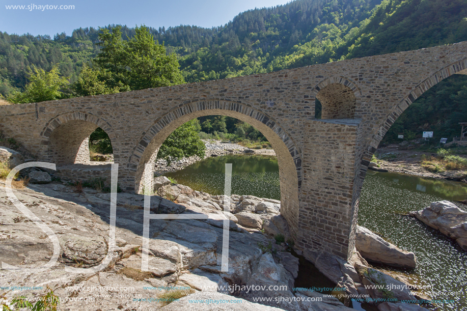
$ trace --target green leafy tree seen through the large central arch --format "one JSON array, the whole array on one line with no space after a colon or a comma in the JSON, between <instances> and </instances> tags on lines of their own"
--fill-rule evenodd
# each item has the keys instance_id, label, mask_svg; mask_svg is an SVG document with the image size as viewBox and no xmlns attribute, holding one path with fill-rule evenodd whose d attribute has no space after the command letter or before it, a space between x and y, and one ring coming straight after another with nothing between
<instances>
[{"instance_id":1,"label":"green leafy tree seen through the large central arch","mask_svg":"<svg viewBox=\"0 0 467 311\"><path fill-rule=\"evenodd\" d=\"M200 130L198 119L193 119L178 127L160 146L157 158L166 159L168 163L173 159L193 155L204 158L206 146L198 136Z\"/></svg>"}]
</instances>

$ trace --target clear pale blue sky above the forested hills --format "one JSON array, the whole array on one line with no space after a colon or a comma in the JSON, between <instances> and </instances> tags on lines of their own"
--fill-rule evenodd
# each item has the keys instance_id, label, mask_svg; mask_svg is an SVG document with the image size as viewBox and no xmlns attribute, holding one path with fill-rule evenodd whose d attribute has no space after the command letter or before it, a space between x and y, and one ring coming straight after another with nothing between
<instances>
[{"instance_id":1,"label":"clear pale blue sky above the forested hills","mask_svg":"<svg viewBox=\"0 0 467 311\"><path fill-rule=\"evenodd\" d=\"M166 28L180 24L211 27L224 25L240 12L286 4L287 0L0 0L0 31L9 34L71 35L79 27L145 24ZM6 6L32 6L13 10ZM71 6L72 10L37 9L38 6Z\"/></svg>"}]
</instances>

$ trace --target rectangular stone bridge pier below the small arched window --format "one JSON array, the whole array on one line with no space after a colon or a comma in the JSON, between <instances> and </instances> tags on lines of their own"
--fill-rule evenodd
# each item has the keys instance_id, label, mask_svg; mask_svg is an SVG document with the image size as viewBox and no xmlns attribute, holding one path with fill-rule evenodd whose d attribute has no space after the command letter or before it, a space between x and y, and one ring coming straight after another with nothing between
<instances>
[{"instance_id":1,"label":"rectangular stone bridge pier below the small arched window","mask_svg":"<svg viewBox=\"0 0 467 311\"><path fill-rule=\"evenodd\" d=\"M361 187L361 121L315 120L305 129L296 245L348 259Z\"/></svg>"}]
</instances>

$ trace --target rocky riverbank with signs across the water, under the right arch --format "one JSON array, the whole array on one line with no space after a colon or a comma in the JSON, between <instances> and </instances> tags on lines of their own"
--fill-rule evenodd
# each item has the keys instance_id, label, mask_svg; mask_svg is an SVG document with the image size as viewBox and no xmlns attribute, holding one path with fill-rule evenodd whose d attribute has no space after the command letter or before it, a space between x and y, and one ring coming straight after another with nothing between
<instances>
[{"instance_id":1,"label":"rocky riverbank with signs across the water, under the right arch","mask_svg":"<svg viewBox=\"0 0 467 311\"><path fill-rule=\"evenodd\" d=\"M467 154L460 154L459 156L467 158ZM410 150L402 143L378 148L375 152L376 159L373 162L378 164L378 167L374 168L387 169L389 172L467 182L467 171L465 169L448 170L440 168L436 172L431 169L430 172L426 167L430 168L431 165L426 165L426 162L423 161L434 157L436 157L435 152Z\"/></svg>"}]
</instances>

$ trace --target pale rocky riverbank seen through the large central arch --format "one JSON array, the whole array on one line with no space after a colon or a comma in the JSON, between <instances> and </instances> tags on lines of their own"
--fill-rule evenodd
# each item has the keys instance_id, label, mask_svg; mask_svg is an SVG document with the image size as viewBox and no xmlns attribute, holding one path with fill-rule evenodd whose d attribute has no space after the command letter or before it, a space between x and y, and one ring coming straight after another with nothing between
<instances>
[{"instance_id":1,"label":"pale rocky riverbank seen through the large central arch","mask_svg":"<svg viewBox=\"0 0 467 311\"><path fill-rule=\"evenodd\" d=\"M263 154L275 156L276 152L273 149L250 149L235 143L224 143L222 140L202 139L206 146L205 156L203 159L209 157L217 157L229 154ZM154 173L162 175L169 172L177 172L180 169L202 160L199 156L191 156L180 160L172 161L167 165L164 159L158 159L154 163Z\"/></svg>"}]
</instances>

